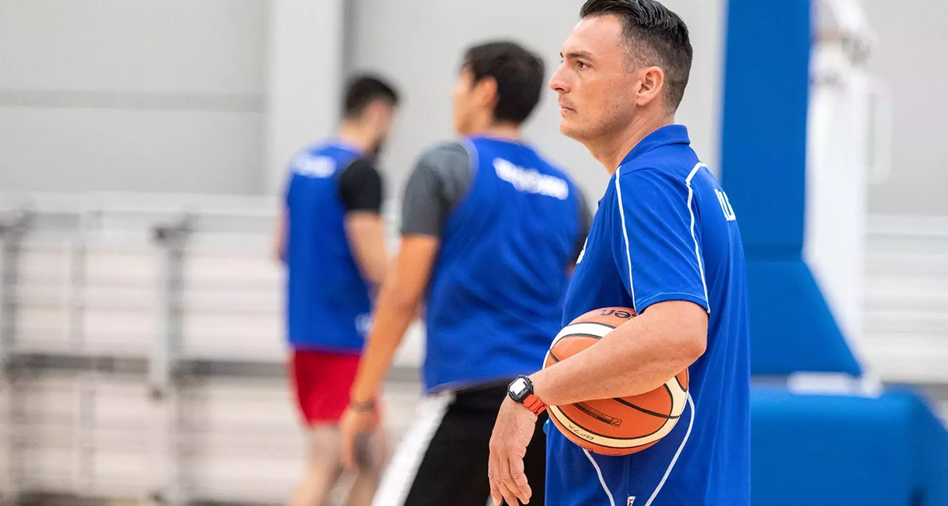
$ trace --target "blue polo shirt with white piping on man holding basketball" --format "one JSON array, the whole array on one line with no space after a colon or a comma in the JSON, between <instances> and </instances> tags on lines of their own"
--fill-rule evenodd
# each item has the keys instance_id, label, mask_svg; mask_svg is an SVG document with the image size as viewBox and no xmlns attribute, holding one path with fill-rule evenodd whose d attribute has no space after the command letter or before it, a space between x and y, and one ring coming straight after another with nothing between
<instances>
[{"instance_id":1,"label":"blue polo shirt with white piping on man holding basketball","mask_svg":"<svg viewBox=\"0 0 948 506\"><path fill-rule=\"evenodd\" d=\"M746 506L750 356L738 222L682 125L638 143L599 201L562 325L592 309L668 301L708 310L707 349L671 433L625 457L584 451L550 424L547 504Z\"/></svg>"}]
</instances>

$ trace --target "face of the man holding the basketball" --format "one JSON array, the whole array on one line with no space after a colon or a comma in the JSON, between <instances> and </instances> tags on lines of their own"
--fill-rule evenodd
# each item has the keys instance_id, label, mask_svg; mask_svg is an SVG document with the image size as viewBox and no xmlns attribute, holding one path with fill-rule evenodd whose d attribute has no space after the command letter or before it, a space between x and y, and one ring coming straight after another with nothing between
<instances>
[{"instance_id":1,"label":"face of the man holding the basketball","mask_svg":"<svg viewBox=\"0 0 948 506\"><path fill-rule=\"evenodd\" d=\"M576 141L628 124L634 73L626 61L621 21L611 15L581 20L563 43L563 63L550 79L559 94L559 131Z\"/></svg>"}]
</instances>

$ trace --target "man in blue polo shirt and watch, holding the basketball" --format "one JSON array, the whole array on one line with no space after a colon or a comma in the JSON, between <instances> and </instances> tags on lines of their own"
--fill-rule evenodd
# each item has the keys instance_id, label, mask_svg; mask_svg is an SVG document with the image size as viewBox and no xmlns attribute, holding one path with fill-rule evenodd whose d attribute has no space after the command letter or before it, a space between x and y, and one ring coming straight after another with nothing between
<instances>
[{"instance_id":1,"label":"man in blue polo shirt and watch, holding the basketball","mask_svg":"<svg viewBox=\"0 0 948 506\"><path fill-rule=\"evenodd\" d=\"M562 325L589 310L638 316L598 343L511 384L491 437L495 504L536 496L521 456L531 405L648 392L689 367L671 433L625 457L587 452L548 427L546 503L746 506L750 359L743 250L720 184L674 124L692 49L654 0L589 0L550 80L560 131L611 174L566 295ZM502 497L502 498L501 498Z\"/></svg>"}]
</instances>

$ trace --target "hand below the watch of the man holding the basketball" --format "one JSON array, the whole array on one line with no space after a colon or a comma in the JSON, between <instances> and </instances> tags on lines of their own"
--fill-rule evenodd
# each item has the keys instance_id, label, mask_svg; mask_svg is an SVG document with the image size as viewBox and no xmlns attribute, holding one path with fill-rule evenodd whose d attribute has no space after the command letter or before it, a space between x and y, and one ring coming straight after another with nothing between
<instances>
[{"instance_id":1,"label":"hand below the watch of the man holding the basketball","mask_svg":"<svg viewBox=\"0 0 948 506\"><path fill-rule=\"evenodd\" d=\"M503 400L501 412L497 414L494 432L490 436L490 459L487 464L487 479L490 481L490 497L494 506L502 500L517 506L517 499L530 502L530 485L523 473L523 456L533 438L537 426L537 415L515 403L509 397ZM501 498L502 497L502 498Z\"/></svg>"}]
</instances>

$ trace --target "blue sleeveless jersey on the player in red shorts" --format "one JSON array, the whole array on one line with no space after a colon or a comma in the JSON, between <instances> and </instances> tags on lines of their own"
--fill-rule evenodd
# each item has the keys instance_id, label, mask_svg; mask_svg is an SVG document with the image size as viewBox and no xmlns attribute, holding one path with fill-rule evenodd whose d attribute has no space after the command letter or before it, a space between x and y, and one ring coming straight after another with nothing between
<instances>
[{"instance_id":1,"label":"blue sleeveless jersey on the player in red shorts","mask_svg":"<svg viewBox=\"0 0 948 506\"><path fill-rule=\"evenodd\" d=\"M345 232L338 178L360 156L335 142L290 162L286 189L286 333L292 347L358 353L368 330L369 288Z\"/></svg>"}]
</instances>

